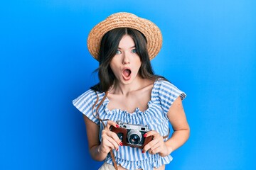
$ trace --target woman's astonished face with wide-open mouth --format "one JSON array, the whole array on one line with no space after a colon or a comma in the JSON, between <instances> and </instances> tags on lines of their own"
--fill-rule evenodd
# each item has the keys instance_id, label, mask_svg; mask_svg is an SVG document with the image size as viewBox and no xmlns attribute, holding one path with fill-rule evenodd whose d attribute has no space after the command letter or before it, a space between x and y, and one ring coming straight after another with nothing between
<instances>
[{"instance_id":1,"label":"woman's astonished face with wide-open mouth","mask_svg":"<svg viewBox=\"0 0 256 170\"><path fill-rule=\"evenodd\" d=\"M122 84L130 84L137 79L142 62L129 35L124 35L120 40L117 53L110 62L110 67L117 81Z\"/></svg>"}]
</instances>

